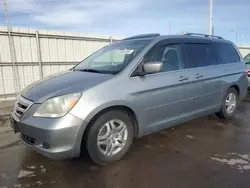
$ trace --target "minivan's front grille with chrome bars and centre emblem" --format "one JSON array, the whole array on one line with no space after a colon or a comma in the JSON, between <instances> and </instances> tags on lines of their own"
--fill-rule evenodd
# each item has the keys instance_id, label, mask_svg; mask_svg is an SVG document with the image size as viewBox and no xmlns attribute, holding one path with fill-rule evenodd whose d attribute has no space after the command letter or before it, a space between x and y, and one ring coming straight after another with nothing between
<instances>
[{"instance_id":1,"label":"minivan's front grille with chrome bars and centre emblem","mask_svg":"<svg viewBox=\"0 0 250 188\"><path fill-rule=\"evenodd\" d=\"M23 114L30 108L33 103L22 96L19 96L15 104L15 114L18 117L22 117Z\"/></svg>"}]
</instances>

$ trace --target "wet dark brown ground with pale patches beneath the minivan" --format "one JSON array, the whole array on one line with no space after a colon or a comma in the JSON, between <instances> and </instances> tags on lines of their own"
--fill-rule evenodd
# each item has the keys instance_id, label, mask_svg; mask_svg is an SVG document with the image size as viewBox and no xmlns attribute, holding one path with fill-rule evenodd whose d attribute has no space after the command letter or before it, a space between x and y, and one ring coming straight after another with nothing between
<instances>
[{"instance_id":1,"label":"wet dark brown ground with pale patches beneath the minivan","mask_svg":"<svg viewBox=\"0 0 250 188\"><path fill-rule=\"evenodd\" d=\"M26 148L0 117L0 188L249 188L250 100L233 120L205 116L135 140L125 158L54 161Z\"/></svg>"}]
</instances>

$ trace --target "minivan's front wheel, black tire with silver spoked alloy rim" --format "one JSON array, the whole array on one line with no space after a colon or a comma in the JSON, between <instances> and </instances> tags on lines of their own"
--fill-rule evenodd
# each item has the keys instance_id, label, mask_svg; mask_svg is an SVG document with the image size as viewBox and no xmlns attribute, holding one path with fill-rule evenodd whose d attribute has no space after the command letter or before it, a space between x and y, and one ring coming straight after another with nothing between
<instances>
[{"instance_id":1,"label":"minivan's front wheel, black tire with silver spoked alloy rim","mask_svg":"<svg viewBox=\"0 0 250 188\"><path fill-rule=\"evenodd\" d=\"M123 126L122 123L125 125L125 128L120 128ZM120 129L121 131L119 131ZM118 138L117 135L122 135L120 137L123 139ZM128 114L120 110L111 110L101 114L91 123L87 133L86 148L95 163L106 165L120 160L129 150L133 139L134 125ZM121 140L125 140L124 143L121 144ZM105 144L102 145L100 143ZM122 146L119 148L117 145ZM112 148L114 148L114 151Z\"/></svg>"}]
</instances>

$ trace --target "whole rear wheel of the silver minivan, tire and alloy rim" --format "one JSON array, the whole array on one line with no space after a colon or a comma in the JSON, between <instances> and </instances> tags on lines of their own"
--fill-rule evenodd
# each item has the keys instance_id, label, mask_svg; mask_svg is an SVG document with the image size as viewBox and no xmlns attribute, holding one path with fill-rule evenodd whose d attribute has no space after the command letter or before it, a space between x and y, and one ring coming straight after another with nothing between
<instances>
[{"instance_id":1,"label":"whole rear wheel of the silver minivan, tire and alloy rim","mask_svg":"<svg viewBox=\"0 0 250 188\"><path fill-rule=\"evenodd\" d=\"M229 88L223 97L221 109L216 115L222 119L231 119L238 105L239 95L235 88Z\"/></svg>"}]
</instances>

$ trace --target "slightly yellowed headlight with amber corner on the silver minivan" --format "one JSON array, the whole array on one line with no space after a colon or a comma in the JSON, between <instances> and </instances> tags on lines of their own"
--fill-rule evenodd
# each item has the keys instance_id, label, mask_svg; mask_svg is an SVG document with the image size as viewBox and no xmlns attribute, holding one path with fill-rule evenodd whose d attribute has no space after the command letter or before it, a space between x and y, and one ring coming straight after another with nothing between
<instances>
[{"instance_id":1,"label":"slightly yellowed headlight with amber corner on the silver minivan","mask_svg":"<svg viewBox=\"0 0 250 188\"><path fill-rule=\"evenodd\" d=\"M81 93L62 95L48 99L37 109L35 117L62 117L67 114L78 102Z\"/></svg>"}]
</instances>

